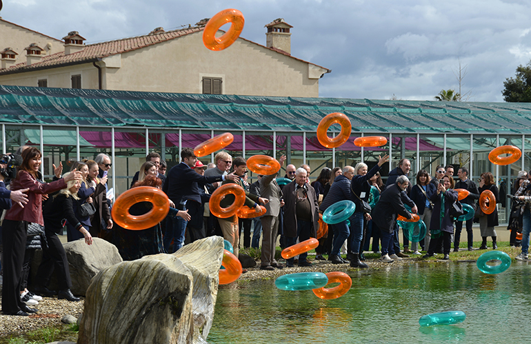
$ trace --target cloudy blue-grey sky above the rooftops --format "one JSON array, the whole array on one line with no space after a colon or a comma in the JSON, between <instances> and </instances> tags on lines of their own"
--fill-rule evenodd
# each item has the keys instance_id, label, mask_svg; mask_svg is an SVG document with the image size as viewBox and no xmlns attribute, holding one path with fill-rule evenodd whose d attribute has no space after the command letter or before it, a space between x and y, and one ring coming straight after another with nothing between
<instances>
[{"instance_id":1,"label":"cloudy blue-grey sky above the rooftops","mask_svg":"<svg viewBox=\"0 0 531 344\"><path fill-rule=\"evenodd\" d=\"M433 100L459 90L470 101L503 101L505 78L531 59L531 1L525 0L2 0L0 16L61 39L88 43L194 24L236 8L241 37L265 45L265 24L294 26L291 53L332 70L320 97Z\"/></svg>"}]
</instances>

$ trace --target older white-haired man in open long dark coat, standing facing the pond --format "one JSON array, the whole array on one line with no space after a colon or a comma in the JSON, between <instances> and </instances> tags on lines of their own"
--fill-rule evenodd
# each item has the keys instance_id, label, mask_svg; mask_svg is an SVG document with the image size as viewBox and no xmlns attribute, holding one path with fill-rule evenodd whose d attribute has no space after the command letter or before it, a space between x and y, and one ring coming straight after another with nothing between
<instances>
[{"instance_id":1,"label":"older white-haired man in open long dark coat, standing facing the pond","mask_svg":"<svg viewBox=\"0 0 531 344\"><path fill-rule=\"evenodd\" d=\"M306 183L308 172L304 168L295 171L295 180L284 186L284 237L286 246L317 236L319 228L319 205L314 188ZM306 257L308 253L299 254L299 266L312 266ZM288 259L285 266L293 267L294 258Z\"/></svg>"}]
</instances>

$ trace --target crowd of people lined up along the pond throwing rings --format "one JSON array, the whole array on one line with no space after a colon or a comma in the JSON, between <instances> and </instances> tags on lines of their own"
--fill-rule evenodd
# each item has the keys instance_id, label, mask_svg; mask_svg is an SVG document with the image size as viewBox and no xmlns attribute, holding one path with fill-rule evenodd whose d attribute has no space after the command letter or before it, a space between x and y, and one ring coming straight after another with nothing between
<instances>
[{"instance_id":1,"label":"crowd of people lined up along the pond throwing rings","mask_svg":"<svg viewBox=\"0 0 531 344\"><path fill-rule=\"evenodd\" d=\"M270 175L258 175L257 181L248 183L246 159L232 159L228 152L214 156L214 163L203 165L190 148L181 150L181 163L166 173L167 165L156 152L146 156L139 172L134 175L131 188L150 186L161 189L170 199L170 212L164 221L145 230L126 230L111 217L112 200L107 199L107 173L112 166L110 156L101 153L94 160L75 162L69 172L63 174L63 165L53 166L54 178L45 183L39 172L41 152L37 148L23 146L15 154L21 157L17 173L6 188L4 179L6 164L0 161L0 209L3 209L3 289L4 314L28 315L37 312L34 305L41 296L58 295L59 299L79 301L70 291L72 282L68 261L58 234L66 226L68 241L83 239L92 244L93 237L109 241L118 247L124 260L142 256L172 253L183 245L206 238L223 236L238 256L239 247L261 246L261 270L282 269L275 259L277 243L289 247L297 241L317 237L319 218L331 205L350 200L356 210L349 219L329 225L328 233L319 238L317 260L334 264L349 263L351 267L365 268L364 251L381 254L380 261L391 263L409 257L408 254L428 258L443 254L449 259L450 250L459 250L463 222L452 217L451 208L458 199L456 188L468 190L461 203L475 210L479 222L482 244L497 247L497 210L484 214L478 210L479 194L490 190L499 202L499 190L490 172L481 174L478 185L468 178L468 169L459 168L457 183L454 167L437 166L433 177L425 170L416 175L412 185L408 174L411 164L401 159L390 170L387 182L381 179L381 167L389 156L379 157L368 168L365 163L354 167L323 168L317 180L310 183L310 166L285 167L284 178L288 183L279 184L280 171ZM286 156L279 158L281 166ZM4 173L2 173L4 172ZM218 218L210 212L212 192L221 185L236 183L245 190L245 205L259 213L253 219L237 216ZM520 172L512 188L512 210L508 229L512 230L511 245L521 245L517 259L528 259L531 229L531 184L528 174ZM234 201L228 194L221 201L227 207ZM261 207L262 205L263 207ZM130 208L133 216L146 214L152 208L150 202L140 202ZM265 208L265 212L263 212ZM403 251L399 242L398 216L411 219L418 214L426 226L427 234L419 242L410 243L403 231ZM465 221L468 250L473 250L472 222ZM455 230L454 230L455 225ZM523 239L518 240L521 233ZM243 236L243 240L240 237ZM261 245L260 245L261 238ZM280 239L280 240L279 240ZM372 239L372 246L371 246ZM30 266L34 251L43 250L43 259L37 270L33 287L28 290ZM346 254L346 259L342 255ZM285 267L312 266L308 254L286 260ZM48 289L52 273L57 272L58 290ZM244 270L246 272L246 270Z\"/></svg>"}]
</instances>

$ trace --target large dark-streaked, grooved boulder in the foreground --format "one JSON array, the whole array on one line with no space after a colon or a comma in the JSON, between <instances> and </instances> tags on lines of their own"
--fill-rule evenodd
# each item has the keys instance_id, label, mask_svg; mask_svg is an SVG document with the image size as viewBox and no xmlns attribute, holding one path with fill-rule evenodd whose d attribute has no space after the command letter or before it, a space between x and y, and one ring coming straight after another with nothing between
<instances>
[{"instance_id":1,"label":"large dark-streaked, grooved boulder in the foreground","mask_svg":"<svg viewBox=\"0 0 531 344\"><path fill-rule=\"evenodd\" d=\"M170 254L101 270L87 290L77 343L192 343L192 287L192 273Z\"/></svg>"}]
</instances>

